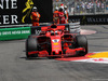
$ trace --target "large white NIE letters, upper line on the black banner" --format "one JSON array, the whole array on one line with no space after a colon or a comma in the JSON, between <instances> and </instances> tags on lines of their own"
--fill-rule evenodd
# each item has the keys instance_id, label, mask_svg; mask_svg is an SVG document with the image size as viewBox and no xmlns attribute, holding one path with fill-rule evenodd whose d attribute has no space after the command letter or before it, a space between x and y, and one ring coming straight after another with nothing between
<instances>
[{"instance_id":1,"label":"large white NIE letters, upper line on the black banner","mask_svg":"<svg viewBox=\"0 0 108 81\"><path fill-rule=\"evenodd\" d=\"M17 0L1 0L0 2L0 9L17 9ZM11 4L10 4L11 3ZM5 6L5 8L4 8Z\"/></svg>"}]
</instances>

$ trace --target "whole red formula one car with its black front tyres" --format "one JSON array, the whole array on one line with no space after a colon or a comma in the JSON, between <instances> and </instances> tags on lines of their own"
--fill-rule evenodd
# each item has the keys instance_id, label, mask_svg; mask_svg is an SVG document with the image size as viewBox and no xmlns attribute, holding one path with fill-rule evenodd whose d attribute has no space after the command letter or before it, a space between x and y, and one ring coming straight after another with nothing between
<instances>
[{"instance_id":1,"label":"whole red formula one car with its black front tyres","mask_svg":"<svg viewBox=\"0 0 108 81\"><path fill-rule=\"evenodd\" d=\"M65 26L43 27L39 36L30 35L26 40L27 57L64 57L86 53L86 37L69 33L68 30L65 30Z\"/></svg>"}]
</instances>

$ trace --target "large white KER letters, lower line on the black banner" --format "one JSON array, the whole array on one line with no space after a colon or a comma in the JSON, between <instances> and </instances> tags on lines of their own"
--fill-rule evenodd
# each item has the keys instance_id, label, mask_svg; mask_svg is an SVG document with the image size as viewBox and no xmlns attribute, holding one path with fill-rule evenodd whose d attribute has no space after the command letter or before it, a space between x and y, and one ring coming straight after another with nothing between
<instances>
[{"instance_id":1,"label":"large white KER letters, lower line on the black banner","mask_svg":"<svg viewBox=\"0 0 108 81\"><path fill-rule=\"evenodd\" d=\"M3 23L1 21L3 21ZM0 25L1 24L18 24L17 15L11 15L11 17L9 15L0 15Z\"/></svg>"}]
</instances>

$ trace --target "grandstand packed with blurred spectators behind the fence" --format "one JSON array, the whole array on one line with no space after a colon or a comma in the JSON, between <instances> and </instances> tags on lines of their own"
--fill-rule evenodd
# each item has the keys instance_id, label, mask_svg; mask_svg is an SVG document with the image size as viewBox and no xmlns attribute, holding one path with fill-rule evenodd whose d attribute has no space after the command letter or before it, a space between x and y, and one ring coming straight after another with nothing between
<instances>
[{"instance_id":1,"label":"grandstand packed with blurred spectators behind the fence","mask_svg":"<svg viewBox=\"0 0 108 81\"><path fill-rule=\"evenodd\" d=\"M108 0L53 0L53 6L64 3L69 15L108 14Z\"/></svg>"}]
</instances>

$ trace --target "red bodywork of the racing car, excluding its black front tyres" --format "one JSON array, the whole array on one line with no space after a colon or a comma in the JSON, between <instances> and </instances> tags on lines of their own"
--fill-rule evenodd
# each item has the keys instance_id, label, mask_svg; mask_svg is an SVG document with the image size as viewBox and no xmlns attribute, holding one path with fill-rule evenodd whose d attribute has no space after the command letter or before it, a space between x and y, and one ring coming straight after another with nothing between
<instances>
[{"instance_id":1,"label":"red bodywork of the racing car, excluding its black front tyres","mask_svg":"<svg viewBox=\"0 0 108 81\"><path fill-rule=\"evenodd\" d=\"M85 52L84 48L75 48L73 43L76 42L77 33L69 33L69 31L65 30L65 26L52 25L42 27L41 31L39 36L33 36L32 38L37 38L38 44L42 50L28 52L28 55L38 54L39 57L64 57L73 56L79 51Z\"/></svg>"}]
</instances>

